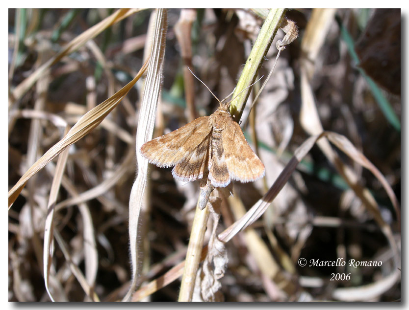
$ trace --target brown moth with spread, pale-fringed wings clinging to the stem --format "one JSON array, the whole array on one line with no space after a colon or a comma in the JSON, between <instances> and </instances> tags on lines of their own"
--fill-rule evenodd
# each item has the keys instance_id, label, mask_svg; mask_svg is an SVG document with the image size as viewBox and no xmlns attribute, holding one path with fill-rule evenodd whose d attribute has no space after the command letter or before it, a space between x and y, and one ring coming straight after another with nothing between
<instances>
[{"instance_id":1,"label":"brown moth with spread, pale-fringed wings clinging to the stem","mask_svg":"<svg viewBox=\"0 0 409 310\"><path fill-rule=\"evenodd\" d=\"M161 168L175 166L172 175L178 180L207 178L210 187L226 187L231 180L252 182L263 177L264 165L231 117L228 105L220 103L210 116L199 117L146 142L141 147L142 156Z\"/></svg>"}]
</instances>

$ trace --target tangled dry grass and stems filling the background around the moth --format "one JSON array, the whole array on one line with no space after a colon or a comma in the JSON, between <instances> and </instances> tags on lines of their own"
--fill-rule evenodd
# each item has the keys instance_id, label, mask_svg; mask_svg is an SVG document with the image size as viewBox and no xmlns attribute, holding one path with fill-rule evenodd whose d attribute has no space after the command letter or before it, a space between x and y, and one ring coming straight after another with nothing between
<instances>
[{"instance_id":1,"label":"tangled dry grass and stems filling the background around the moth","mask_svg":"<svg viewBox=\"0 0 409 310\"><path fill-rule=\"evenodd\" d=\"M187 66L225 98L272 12L9 10L9 301L400 300L400 10L275 11L299 37L240 111L265 177L212 210L136 162L218 107Z\"/></svg>"}]
</instances>

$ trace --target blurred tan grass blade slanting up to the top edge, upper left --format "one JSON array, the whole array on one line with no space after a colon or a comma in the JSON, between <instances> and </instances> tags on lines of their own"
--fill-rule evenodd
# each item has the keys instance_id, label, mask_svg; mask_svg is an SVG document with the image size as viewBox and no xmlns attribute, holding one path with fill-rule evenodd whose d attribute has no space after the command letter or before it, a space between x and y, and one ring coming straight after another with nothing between
<instances>
[{"instance_id":1,"label":"blurred tan grass blade slanting up to the top edge, upper left","mask_svg":"<svg viewBox=\"0 0 409 310\"><path fill-rule=\"evenodd\" d=\"M103 30L110 27L116 22L122 21L124 18L138 12L139 9L120 9L113 13L111 16L107 17L103 21L99 22L95 26L89 28L87 31L81 33L77 38L72 40L65 48L59 52L57 55L52 57L44 65L40 66L35 70L29 77L27 77L23 82L21 82L11 93L10 98L13 101L20 99L26 91L34 85L34 83L39 79L39 77L52 65L57 63L62 57L68 55L75 51L78 47L85 44L88 40L96 37Z\"/></svg>"}]
</instances>

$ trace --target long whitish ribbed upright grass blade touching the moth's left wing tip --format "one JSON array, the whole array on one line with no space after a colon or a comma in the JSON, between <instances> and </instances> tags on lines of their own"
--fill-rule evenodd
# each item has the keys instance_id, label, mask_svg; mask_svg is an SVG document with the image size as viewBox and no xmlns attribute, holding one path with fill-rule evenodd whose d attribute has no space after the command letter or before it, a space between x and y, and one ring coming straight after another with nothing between
<instances>
[{"instance_id":1,"label":"long whitish ribbed upright grass blade touching the moth's left wing tip","mask_svg":"<svg viewBox=\"0 0 409 310\"><path fill-rule=\"evenodd\" d=\"M129 242L132 264L132 283L125 301L130 300L132 293L138 286L138 273L140 272L141 255L138 251L137 234L140 229L138 225L141 208L143 207L144 193L147 182L148 160L142 157L139 152L140 147L146 141L152 139L153 126L156 114L161 79L163 71L163 60L165 54L165 40L167 27L167 11L158 9L156 11L155 33L152 43L152 51L147 73L145 88L139 113L138 130L136 133L136 159L138 162L138 176L132 185L129 198Z\"/></svg>"}]
</instances>

